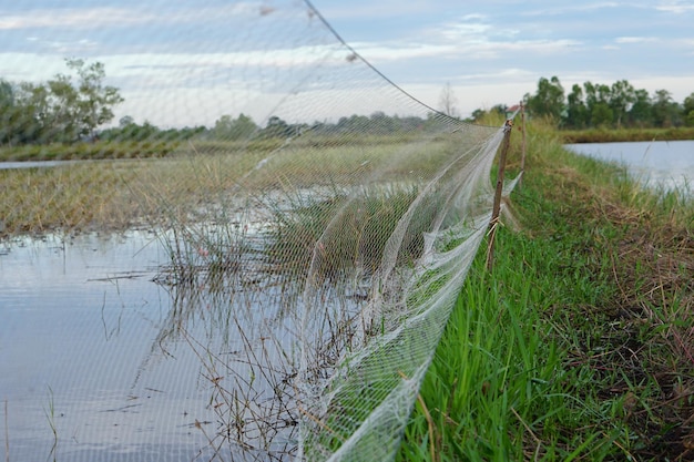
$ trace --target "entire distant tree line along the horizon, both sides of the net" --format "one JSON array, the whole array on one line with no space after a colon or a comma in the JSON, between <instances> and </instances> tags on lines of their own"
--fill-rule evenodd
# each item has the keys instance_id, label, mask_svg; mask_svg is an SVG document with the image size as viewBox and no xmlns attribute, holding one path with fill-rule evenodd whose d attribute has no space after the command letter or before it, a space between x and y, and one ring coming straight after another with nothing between
<instances>
[{"instance_id":1,"label":"entire distant tree line along the horizon, both sides of the net","mask_svg":"<svg viewBox=\"0 0 694 462\"><path fill-rule=\"evenodd\" d=\"M450 86L445 89L441 113L429 112L426 117L353 114L337 122L288 123L271 116L264 126L245 114L225 114L214 126L161 130L150 122L135 123L124 116L118 126L101 129L113 117L113 107L124 101L120 90L105 85L105 69L100 62L86 63L67 59L68 74L57 74L44 83L10 83L0 79L0 145L72 143L84 140L104 141L181 141L193 136L207 140L246 140L297 136L307 132L323 135L340 133L390 134L431 131L439 116L455 117ZM523 103L530 116L547 117L558 126L572 130L591 127L673 127L694 126L694 93L683 103L673 101L666 90L650 94L635 89L626 80L612 85L585 82L574 84L565 93L557 76L541 78L534 94L525 94ZM498 104L491 112L506 114L507 106ZM445 115L448 114L448 115ZM477 110L468 119L479 121L487 111Z\"/></svg>"}]
</instances>

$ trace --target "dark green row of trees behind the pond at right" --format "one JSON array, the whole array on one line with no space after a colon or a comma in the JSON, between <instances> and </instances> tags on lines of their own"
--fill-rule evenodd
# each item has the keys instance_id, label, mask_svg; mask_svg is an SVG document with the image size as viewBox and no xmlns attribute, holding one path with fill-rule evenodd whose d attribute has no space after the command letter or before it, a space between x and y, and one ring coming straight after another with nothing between
<instances>
[{"instance_id":1,"label":"dark green row of trees behind the pond at right","mask_svg":"<svg viewBox=\"0 0 694 462\"><path fill-rule=\"evenodd\" d=\"M541 78L534 94L525 94L528 114L551 119L560 127L677 127L694 126L694 93L682 103L667 90L635 89L629 81L611 85L584 82L567 94L557 76Z\"/></svg>"}]
</instances>

